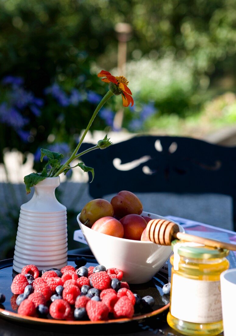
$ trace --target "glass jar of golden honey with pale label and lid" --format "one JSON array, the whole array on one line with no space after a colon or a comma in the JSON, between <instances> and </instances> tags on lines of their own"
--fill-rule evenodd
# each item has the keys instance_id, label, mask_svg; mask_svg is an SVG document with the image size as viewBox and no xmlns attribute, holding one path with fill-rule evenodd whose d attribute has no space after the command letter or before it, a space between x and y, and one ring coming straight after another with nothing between
<instances>
[{"instance_id":1,"label":"glass jar of golden honey with pale label and lid","mask_svg":"<svg viewBox=\"0 0 236 336\"><path fill-rule=\"evenodd\" d=\"M167 323L183 335L223 331L220 274L229 268L227 249L193 242L171 243L171 293Z\"/></svg>"}]
</instances>

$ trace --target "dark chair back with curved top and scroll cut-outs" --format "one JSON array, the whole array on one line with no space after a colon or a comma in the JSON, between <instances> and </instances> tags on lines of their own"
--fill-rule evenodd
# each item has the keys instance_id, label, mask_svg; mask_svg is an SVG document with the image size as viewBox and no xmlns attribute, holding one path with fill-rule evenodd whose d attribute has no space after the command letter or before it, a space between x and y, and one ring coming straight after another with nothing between
<instances>
[{"instance_id":1,"label":"dark chair back with curved top and scroll cut-outs","mask_svg":"<svg viewBox=\"0 0 236 336\"><path fill-rule=\"evenodd\" d=\"M83 149L91 144L83 144ZM84 155L95 176L93 198L129 190L133 193L214 193L233 199L236 229L236 147L172 136L135 136Z\"/></svg>"}]
</instances>

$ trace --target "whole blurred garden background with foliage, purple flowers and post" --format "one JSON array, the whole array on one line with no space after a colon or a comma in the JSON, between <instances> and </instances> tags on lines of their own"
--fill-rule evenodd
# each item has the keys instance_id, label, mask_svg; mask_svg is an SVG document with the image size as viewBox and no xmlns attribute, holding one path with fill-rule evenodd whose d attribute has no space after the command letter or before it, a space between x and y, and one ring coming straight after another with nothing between
<instances>
[{"instance_id":1,"label":"whole blurred garden background with foliage, purple flowers and post","mask_svg":"<svg viewBox=\"0 0 236 336\"><path fill-rule=\"evenodd\" d=\"M12 256L20 205L29 200L23 176L41 171L40 148L65 158L75 148L107 92L100 70L125 75L135 104L123 109L119 96L110 99L91 138L234 135L235 29L234 0L1 0L2 258ZM73 182L87 180L83 174L63 177L57 190L70 248L78 246L73 231L84 184L70 203L68 195Z\"/></svg>"}]
</instances>

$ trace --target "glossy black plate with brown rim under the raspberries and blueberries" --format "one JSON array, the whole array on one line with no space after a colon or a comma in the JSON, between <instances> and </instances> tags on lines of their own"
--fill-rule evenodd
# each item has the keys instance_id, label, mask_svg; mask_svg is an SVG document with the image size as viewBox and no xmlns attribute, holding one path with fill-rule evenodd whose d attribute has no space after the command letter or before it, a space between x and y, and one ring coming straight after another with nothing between
<instances>
[{"instance_id":1,"label":"glossy black plate with brown rim under the raspberries and blueberries","mask_svg":"<svg viewBox=\"0 0 236 336\"><path fill-rule=\"evenodd\" d=\"M68 264L76 267L74 263L77 255L68 255ZM94 257L86 256L87 264L86 266L96 266L97 262ZM104 324L114 324L114 323L124 323L130 321L142 322L144 319L156 316L161 312L169 308L169 296L164 295L162 287L168 283L168 280L161 274L157 274L153 279L145 284L141 285L130 285L130 289L140 295L141 297L146 295L151 295L155 299L155 305L150 311L140 311L135 313L132 319L116 319L108 321L64 321L64 320L53 320L53 319L40 319L35 317L22 316L17 313L14 308L14 298L11 292L11 283L13 279L12 273L13 259L7 259L0 261L0 293L3 293L6 297L5 302L0 305L0 317L11 320L13 322L27 323L27 324L40 324L40 325L104 325Z\"/></svg>"}]
</instances>

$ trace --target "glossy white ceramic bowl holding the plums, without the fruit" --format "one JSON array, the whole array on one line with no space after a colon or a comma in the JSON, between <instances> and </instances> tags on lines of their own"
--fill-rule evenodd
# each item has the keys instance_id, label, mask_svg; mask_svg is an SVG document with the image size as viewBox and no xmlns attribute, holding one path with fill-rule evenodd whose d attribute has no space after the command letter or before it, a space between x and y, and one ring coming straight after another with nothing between
<instances>
[{"instance_id":1,"label":"glossy white ceramic bowl holding the plums, without the fruit","mask_svg":"<svg viewBox=\"0 0 236 336\"><path fill-rule=\"evenodd\" d=\"M168 219L153 213L142 212L142 216L155 219ZM77 221L89 248L98 264L106 268L119 268L124 272L123 281L130 284L143 284L150 281L161 269L172 253L171 246L157 245L131 239L117 238L92 230ZM181 225L179 231L184 232Z\"/></svg>"}]
</instances>

